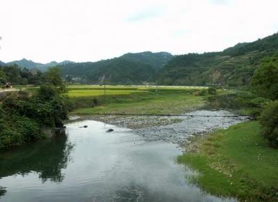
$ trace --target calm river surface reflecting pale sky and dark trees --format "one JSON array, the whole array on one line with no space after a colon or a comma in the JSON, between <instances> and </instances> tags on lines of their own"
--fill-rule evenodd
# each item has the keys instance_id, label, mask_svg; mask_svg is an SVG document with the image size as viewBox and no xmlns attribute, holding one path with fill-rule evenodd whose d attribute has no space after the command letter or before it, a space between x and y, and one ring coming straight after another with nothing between
<instances>
[{"instance_id":1,"label":"calm river surface reflecting pale sky and dark trees","mask_svg":"<svg viewBox=\"0 0 278 202\"><path fill-rule=\"evenodd\" d=\"M183 151L175 142L186 131L242 121L215 118L186 118L194 127L181 122L165 130L91 120L67 124L65 134L0 155L0 201L235 201L202 192L188 182L197 173L176 162Z\"/></svg>"}]
</instances>

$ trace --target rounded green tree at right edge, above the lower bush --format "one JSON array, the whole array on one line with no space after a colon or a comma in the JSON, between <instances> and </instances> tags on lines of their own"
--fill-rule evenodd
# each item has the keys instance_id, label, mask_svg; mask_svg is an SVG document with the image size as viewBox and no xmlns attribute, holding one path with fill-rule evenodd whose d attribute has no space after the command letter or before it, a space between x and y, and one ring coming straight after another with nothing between
<instances>
[{"instance_id":1,"label":"rounded green tree at right edge, above the lower bush","mask_svg":"<svg viewBox=\"0 0 278 202\"><path fill-rule=\"evenodd\" d=\"M252 77L252 91L263 98L278 99L278 54L265 58Z\"/></svg>"}]
</instances>

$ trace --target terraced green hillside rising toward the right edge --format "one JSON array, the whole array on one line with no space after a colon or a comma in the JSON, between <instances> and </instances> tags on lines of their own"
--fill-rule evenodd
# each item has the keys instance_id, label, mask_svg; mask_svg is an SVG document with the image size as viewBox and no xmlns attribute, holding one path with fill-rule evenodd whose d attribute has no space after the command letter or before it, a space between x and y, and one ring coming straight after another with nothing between
<instances>
[{"instance_id":1,"label":"terraced green hillside rising toward the right edge","mask_svg":"<svg viewBox=\"0 0 278 202\"><path fill-rule=\"evenodd\" d=\"M160 72L167 85L247 85L264 56L278 52L278 33L222 52L175 56Z\"/></svg>"}]
</instances>

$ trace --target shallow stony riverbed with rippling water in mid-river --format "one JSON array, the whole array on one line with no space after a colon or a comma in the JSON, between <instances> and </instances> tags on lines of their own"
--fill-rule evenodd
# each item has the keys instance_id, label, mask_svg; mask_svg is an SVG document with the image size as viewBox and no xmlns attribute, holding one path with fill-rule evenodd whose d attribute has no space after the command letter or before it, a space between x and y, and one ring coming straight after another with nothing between
<instances>
[{"instance_id":1,"label":"shallow stony riverbed with rippling water in mid-river","mask_svg":"<svg viewBox=\"0 0 278 202\"><path fill-rule=\"evenodd\" d=\"M187 143L194 134L204 134L219 128L247 121L245 116L234 116L224 110L198 110L183 116L72 116L72 120L94 120L126 127L149 141L163 140Z\"/></svg>"}]
</instances>

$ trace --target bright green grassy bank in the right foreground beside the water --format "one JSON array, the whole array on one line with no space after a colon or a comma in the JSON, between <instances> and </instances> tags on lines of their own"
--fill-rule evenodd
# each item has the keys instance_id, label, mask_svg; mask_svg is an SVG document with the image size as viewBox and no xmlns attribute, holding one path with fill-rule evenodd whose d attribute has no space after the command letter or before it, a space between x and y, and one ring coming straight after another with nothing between
<instances>
[{"instance_id":1,"label":"bright green grassy bank in the right foreground beside the water","mask_svg":"<svg viewBox=\"0 0 278 202\"><path fill-rule=\"evenodd\" d=\"M240 201L278 201L278 150L269 148L256 121L195 139L178 162L199 171L202 189Z\"/></svg>"}]
</instances>

